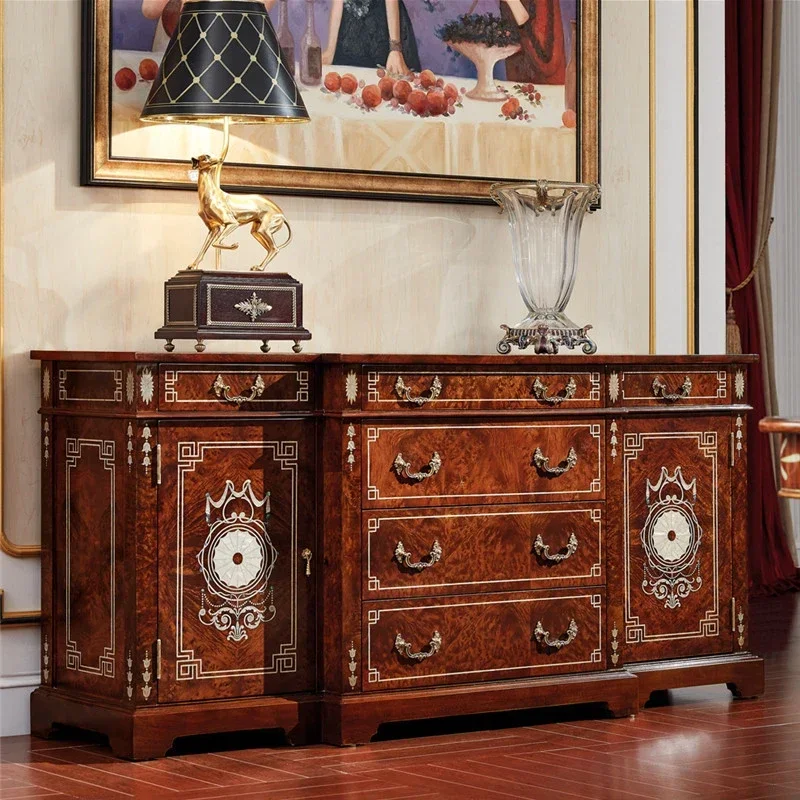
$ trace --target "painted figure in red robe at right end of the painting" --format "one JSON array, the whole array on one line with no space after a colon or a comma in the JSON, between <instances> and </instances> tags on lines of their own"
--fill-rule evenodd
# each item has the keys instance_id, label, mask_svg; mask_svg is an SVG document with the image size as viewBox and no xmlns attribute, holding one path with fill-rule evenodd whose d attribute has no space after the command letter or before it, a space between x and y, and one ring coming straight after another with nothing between
<instances>
[{"instance_id":1,"label":"painted figure in red robe at right end of the painting","mask_svg":"<svg viewBox=\"0 0 800 800\"><path fill-rule=\"evenodd\" d=\"M519 27L522 45L506 59L508 80L564 83L567 57L560 0L500 0L500 15Z\"/></svg>"}]
</instances>

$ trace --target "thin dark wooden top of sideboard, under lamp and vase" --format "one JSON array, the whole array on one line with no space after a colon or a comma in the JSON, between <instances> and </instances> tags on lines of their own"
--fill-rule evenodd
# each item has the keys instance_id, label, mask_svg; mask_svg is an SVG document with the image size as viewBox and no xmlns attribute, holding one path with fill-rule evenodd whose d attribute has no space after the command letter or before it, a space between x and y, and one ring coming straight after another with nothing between
<instances>
[{"instance_id":1,"label":"thin dark wooden top of sideboard, under lamp and vase","mask_svg":"<svg viewBox=\"0 0 800 800\"><path fill-rule=\"evenodd\" d=\"M461 366L580 367L614 365L742 364L756 355L428 355L391 353L137 353L134 351L32 350L36 361L162 362L182 364L454 364Z\"/></svg>"}]
</instances>

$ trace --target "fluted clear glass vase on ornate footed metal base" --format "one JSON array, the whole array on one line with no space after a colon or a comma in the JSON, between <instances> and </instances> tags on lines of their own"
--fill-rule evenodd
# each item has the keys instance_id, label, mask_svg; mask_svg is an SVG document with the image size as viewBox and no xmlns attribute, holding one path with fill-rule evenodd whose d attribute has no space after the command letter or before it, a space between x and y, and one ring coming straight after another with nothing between
<instances>
[{"instance_id":1,"label":"fluted clear glass vase on ornate footed metal base","mask_svg":"<svg viewBox=\"0 0 800 800\"><path fill-rule=\"evenodd\" d=\"M564 313L575 285L578 243L586 213L600 197L597 184L534 181L492 187L492 199L508 217L514 270L528 309L518 325L502 325L499 353L512 346L536 353L559 347L597 351L588 337L591 325L576 325Z\"/></svg>"}]
</instances>

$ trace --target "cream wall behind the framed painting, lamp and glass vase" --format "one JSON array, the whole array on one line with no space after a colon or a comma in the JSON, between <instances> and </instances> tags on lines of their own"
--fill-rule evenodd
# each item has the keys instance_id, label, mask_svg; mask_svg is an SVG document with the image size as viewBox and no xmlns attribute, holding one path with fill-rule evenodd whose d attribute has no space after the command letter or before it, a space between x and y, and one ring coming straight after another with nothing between
<instances>
[{"instance_id":1,"label":"cream wall behind the framed painting, lamp and glass vase","mask_svg":"<svg viewBox=\"0 0 800 800\"><path fill-rule=\"evenodd\" d=\"M28 543L38 540L40 442L28 351L156 347L162 283L193 257L204 229L190 193L78 186L79 2L3 5L4 517L7 534ZM648 349L648 63L648 3L604 0L603 209L584 227L569 308L594 324L600 352ZM500 323L523 316L493 208L281 202L295 242L275 268L305 284L311 349L489 353ZM239 257L252 263L242 241ZM9 608L38 605L34 562L0 554ZM0 639L0 675L18 635L28 634Z\"/></svg>"}]
</instances>

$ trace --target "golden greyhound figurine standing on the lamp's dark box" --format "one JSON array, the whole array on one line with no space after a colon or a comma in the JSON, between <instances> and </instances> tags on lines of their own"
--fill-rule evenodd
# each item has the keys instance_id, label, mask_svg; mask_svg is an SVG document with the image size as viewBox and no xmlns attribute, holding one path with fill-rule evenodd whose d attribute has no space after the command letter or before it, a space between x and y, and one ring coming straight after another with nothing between
<instances>
[{"instance_id":1,"label":"golden greyhound figurine standing on the lamp's dark box","mask_svg":"<svg viewBox=\"0 0 800 800\"><path fill-rule=\"evenodd\" d=\"M228 194L220 186L222 163L228 155L228 142L226 142L219 158L209 155L198 156L192 159L192 169L196 169L197 195L200 200L200 219L208 228L206 237L197 258L189 265L188 269L197 269L200 262L208 252L209 247L218 250L236 250L238 244L225 244L225 239L241 225L252 223L250 233L255 240L267 251L267 255L260 264L252 269L264 270L292 241L292 229L286 221L281 209L266 197L257 194ZM275 234L286 226L289 234L283 244L275 243Z\"/></svg>"}]
</instances>

